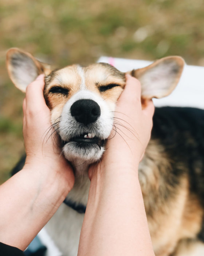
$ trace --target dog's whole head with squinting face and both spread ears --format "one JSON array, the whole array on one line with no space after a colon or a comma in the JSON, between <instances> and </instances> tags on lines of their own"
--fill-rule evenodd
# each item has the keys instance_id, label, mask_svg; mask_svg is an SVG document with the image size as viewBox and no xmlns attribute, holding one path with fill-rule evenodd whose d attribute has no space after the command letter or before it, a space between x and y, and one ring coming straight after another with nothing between
<instances>
[{"instance_id":1,"label":"dog's whole head with squinting face and both spread ears","mask_svg":"<svg viewBox=\"0 0 204 256\"><path fill-rule=\"evenodd\" d=\"M161 98L176 87L183 66L181 57L166 57L130 74L140 80L143 99ZM69 161L91 163L102 156L115 104L125 87L125 73L106 63L52 70L17 48L7 52L7 68L12 82L23 92L39 74L46 75L44 97Z\"/></svg>"}]
</instances>

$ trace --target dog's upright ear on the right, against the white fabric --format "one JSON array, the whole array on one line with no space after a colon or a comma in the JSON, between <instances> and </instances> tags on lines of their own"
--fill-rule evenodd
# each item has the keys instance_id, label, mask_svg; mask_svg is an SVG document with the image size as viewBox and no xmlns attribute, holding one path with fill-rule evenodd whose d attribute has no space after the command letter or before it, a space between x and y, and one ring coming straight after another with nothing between
<instances>
[{"instance_id":1,"label":"dog's upright ear on the right, against the white fabric","mask_svg":"<svg viewBox=\"0 0 204 256\"><path fill-rule=\"evenodd\" d=\"M165 57L130 74L140 80L143 99L162 98L169 95L181 77L184 60L179 56Z\"/></svg>"}]
</instances>

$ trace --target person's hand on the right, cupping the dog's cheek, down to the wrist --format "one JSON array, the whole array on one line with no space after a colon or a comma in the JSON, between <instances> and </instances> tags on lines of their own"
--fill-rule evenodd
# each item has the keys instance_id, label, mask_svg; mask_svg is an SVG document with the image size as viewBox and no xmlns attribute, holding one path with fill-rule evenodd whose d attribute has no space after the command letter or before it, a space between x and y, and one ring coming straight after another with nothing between
<instances>
[{"instance_id":1,"label":"person's hand on the right, cupping the dog's cheek, down to the wrist","mask_svg":"<svg viewBox=\"0 0 204 256\"><path fill-rule=\"evenodd\" d=\"M113 166L112 169L137 169L152 130L154 105L152 100L141 105L141 84L126 74L126 86L118 99L115 109L113 130L106 143L101 163L90 167L90 176L95 168Z\"/></svg>"}]
</instances>

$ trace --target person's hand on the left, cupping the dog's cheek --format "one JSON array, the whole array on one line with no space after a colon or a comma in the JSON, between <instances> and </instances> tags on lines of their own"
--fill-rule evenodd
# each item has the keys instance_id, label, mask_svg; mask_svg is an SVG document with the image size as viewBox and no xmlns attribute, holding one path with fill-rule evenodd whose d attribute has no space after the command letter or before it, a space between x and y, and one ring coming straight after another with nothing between
<instances>
[{"instance_id":1,"label":"person's hand on the left, cupping the dog's cheek","mask_svg":"<svg viewBox=\"0 0 204 256\"><path fill-rule=\"evenodd\" d=\"M50 109L45 103L43 89L44 75L38 76L26 88L23 102L23 136L27 155L25 166L36 168L40 165L50 172L60 172L72 188L74 174L58 146L59 137L50 123Z\"/></svg>"}]
</instances>

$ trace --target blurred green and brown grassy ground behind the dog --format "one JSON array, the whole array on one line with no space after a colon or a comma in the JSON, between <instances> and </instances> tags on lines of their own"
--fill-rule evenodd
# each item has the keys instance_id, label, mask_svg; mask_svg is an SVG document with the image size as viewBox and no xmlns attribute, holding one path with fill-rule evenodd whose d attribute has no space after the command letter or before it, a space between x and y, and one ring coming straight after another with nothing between
<instances>
[{"instance_id":1,"label":"blurred green and brown grassy ground behind the dog","mask_svg":"<svg viewBox=\"0 0 204 256\"><path fill-rule=\"evenodd\" d=\"M1 0L0 184L24 152L24 94L5 67L11 47L59 67L168 55L204 66L204 0Z\"/></svg>"}]
</instances>

